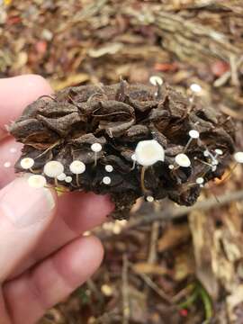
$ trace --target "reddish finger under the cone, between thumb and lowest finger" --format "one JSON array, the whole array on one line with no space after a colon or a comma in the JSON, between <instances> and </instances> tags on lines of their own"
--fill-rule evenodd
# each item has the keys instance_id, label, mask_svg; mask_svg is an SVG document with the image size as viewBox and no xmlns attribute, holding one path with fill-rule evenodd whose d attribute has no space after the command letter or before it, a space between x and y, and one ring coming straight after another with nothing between
<instances>
[{"instance_id":1,"label":"reddish finger under the cone, between thumb and lowest finger","mask_svg":"<svg viewBox=\"0 0 243 324\"><path fill-rule=\"evenodd\" d=\"M103 223L114 208L109 196L94 193L66 193L58 198L58 212L30 256L23 259L20 275L28 267L40 262L68 242L80 237L86 230Z\"/></svg>"}]
</instances>

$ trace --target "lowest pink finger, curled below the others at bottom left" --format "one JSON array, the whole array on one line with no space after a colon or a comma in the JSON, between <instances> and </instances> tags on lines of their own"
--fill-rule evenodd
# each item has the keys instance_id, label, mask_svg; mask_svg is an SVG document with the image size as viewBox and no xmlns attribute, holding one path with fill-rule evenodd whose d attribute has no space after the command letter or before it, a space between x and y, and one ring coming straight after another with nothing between
<instances>
[{"instance_id":1,"label":"lowest pink finger, curled below the others at bottom left","mask_svg":"<svg viewBox=\"0 0 243 324\"><path fill-rule=\"evenodd\" d=\"M4 285L14 324L31 324L64 300L100 266L103 247L97 238L77 238L31 273Z\"/></svg>"}]
</instances>

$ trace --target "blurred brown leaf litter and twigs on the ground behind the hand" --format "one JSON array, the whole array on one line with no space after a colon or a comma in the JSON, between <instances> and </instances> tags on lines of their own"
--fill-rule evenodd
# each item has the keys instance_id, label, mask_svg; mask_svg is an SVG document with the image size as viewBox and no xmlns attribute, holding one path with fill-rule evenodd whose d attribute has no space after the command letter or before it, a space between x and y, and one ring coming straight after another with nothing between
<instances>
[{"instance_id":1,"label":"blurred brown leaf litter and twigs on the ground behind the hand","mask_svg":"<svg viewBox=\"0 0 243 324\"><path fill-rule=\"evenodd\" d=\"M236 123L243 149L242 0L0 0L0 76L58 91L160 76ZM41 324L243 323L242 167L192 208L138 201L95 229L103 266Z\"/></svg>"}]
</instances>

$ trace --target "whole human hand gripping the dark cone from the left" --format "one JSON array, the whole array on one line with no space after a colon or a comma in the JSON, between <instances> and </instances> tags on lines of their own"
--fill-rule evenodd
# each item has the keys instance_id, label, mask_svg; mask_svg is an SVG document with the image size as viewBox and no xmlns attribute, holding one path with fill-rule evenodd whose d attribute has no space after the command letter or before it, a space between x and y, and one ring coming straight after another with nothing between
<instances>
[{"instance_id":1,"label":"whole human hand gripping the dark cone from the left","mask_svg":"<svg viewBox=\"0 0 243 324\"><path fill-rule=\"evenodd\" d=\"M107 196L34 189L14 176L22 146L4 125L52 90L41 76L0 79L0 324L31 324L94 273L101 242L82 237L112 211ZM14 179L15 178L15 179Z\"/></svg>"}]
</instances>

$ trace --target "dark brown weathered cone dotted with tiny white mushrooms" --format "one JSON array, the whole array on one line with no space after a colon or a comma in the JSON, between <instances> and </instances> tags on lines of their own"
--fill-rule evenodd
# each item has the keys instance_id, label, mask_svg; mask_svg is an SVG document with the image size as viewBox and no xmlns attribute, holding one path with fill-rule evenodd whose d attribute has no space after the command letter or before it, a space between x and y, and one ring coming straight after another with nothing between
<instances>
[{"instance_id":1,"label":"dark brown weathered cone dotted with tiny white mushrooms","mask_svg":"<svg viewBox=\"0 0 243 324\"><path fill-rule=\"evenodd\" d=\"M233 124L220 112L166 85L124 81L41 97L10 131L24 144L16 170L33 173L31 185L110 193L118 219L140 196L192 205L234 151Z\"/></svg>"}]
</instances>

